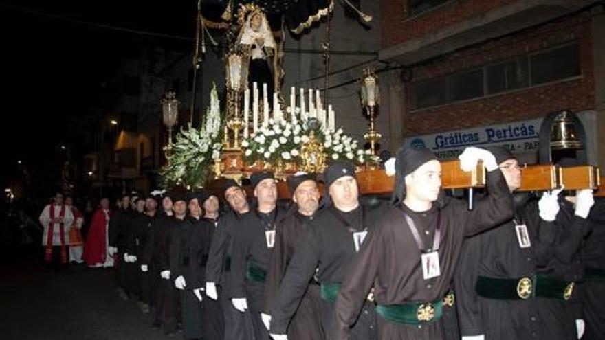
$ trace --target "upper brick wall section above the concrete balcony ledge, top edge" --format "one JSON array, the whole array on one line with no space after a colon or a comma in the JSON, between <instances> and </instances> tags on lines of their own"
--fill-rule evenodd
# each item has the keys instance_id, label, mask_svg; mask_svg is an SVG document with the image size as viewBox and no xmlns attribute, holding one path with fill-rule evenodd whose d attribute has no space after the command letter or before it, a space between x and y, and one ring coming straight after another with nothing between
<instances>
[{"instance_id":1,"label":"upper brick wall section above the concrete balcony ledge, top edge","mask_svg":"<svg viewBox=\"0 0 605 340\"><path fill-rule=\"evenodd\" d=\"M382 47L423 36L444 26L465 21L494 8L520 0L452 0L435 10L408 18L409 0L382 0Z\"/></svg>"}]
</instances>

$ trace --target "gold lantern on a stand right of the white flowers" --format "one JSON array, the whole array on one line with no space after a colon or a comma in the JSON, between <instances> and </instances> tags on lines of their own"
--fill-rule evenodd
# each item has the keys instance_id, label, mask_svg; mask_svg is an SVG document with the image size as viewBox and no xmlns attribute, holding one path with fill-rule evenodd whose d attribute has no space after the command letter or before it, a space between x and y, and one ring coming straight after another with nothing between
<instances>
[{"instance_id":1,"label":"gold lantern on a stand right of the white flowers","mask_svg":"<svg viewBox=\"0 0 605 340\"><path fill-rule=\"evenodd\" d=\"M369 67L364 69L360 79L360 95L362 106L368 111L370 119L370 129L364 135L364 139L370 144L370 150L373 156L376 156L376 144L382 137L375 129L375 107L380 105L380 90L378 88L378 77Z\"/></svg>"}]
</instances>

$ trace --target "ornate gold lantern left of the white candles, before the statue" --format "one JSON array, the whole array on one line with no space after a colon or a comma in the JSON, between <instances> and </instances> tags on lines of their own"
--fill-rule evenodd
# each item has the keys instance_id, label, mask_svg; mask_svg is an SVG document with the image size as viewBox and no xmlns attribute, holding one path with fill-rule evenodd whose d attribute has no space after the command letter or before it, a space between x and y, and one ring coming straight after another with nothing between
<instances>
[{"instance_id":1,"label":"ornate gold lantern left of the white candles, before the statue","mask_svg":"<svg viewBox=\"0 0 605 340\"><path fill-rule=\"evenodd\" d=\"M244 127L245 122L239 114L240 94L248 86L248 64L241 54L232 53L227 56L227 65L225 69L227 76L228 89L228 110L230 111L227 126L233 131L233 149L239 150L239 131ZM228 131L225 131L225 135ZM227 144L228 136L225 136Z\"/></svg>"}]
</instances>

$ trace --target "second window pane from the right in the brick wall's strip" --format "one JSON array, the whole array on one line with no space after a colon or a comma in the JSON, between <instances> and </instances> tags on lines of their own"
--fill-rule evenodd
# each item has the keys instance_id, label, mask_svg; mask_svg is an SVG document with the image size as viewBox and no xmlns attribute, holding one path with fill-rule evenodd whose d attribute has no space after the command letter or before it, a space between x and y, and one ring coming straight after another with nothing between
<instances>
[{"instance_id":1,"label":"second window pane from the right in the brick wall's strip","mask_svg":"<svg viewBox=\"0 0 605 340\"><path fill-rule=\"evenodd\" d=\"M487 94L527 87L527 57L507 60L487 67Z\"/></svg>"}]
</instances>

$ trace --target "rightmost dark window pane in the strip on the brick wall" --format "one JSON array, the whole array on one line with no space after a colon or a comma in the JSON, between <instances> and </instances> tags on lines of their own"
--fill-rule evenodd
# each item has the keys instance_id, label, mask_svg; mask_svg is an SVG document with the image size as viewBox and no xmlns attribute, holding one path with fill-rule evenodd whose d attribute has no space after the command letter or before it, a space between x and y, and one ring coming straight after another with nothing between
<instances>
[{"instance_id":1,"label":"rightmost dark window pane in the strip on the brick wall","mask_svg":"<svg viewBox=\"0 0 605 340\"><path fill-rule=\"evenodd\" d=\"M580 47L573 44L538 52L529 58L529 62L533 85L580 76Z\"/></svg>"}]
</instances>

